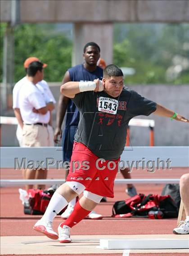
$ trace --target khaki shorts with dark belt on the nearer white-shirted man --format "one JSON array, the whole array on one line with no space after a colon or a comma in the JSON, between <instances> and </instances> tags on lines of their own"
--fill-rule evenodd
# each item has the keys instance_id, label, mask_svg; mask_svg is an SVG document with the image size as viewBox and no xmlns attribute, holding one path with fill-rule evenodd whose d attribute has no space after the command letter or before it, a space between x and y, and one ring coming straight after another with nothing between
<instances>
[{"instance_id":1,"label":"khaki shorts with dark belt on the nearer white-shirted man","mask_svg":"<svg viewBox=\"0 0 189 256\"><path fill-rule=\"evenodd\" d=\"M39 124L24 124L23 147L49 146L48 128Z\"/></svg>"}]
</instances>

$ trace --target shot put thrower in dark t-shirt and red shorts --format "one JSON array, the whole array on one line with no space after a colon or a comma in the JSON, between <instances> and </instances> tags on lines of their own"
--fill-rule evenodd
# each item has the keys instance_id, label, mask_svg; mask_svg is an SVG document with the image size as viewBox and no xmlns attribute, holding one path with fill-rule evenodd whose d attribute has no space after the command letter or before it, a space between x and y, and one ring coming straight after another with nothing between
<instances>
[{"instance_id":1,"label":"shot put thrower in dark t-shirt and red shorts","mask_svg":"<svg viewBox=\"0 0 189 256\"><path fill-rule=\"evenodd\" d=\"M102 197L114 196L113 183L130 119L154 113L177 121L189 120L124 87L121 69L112 64L104 69L102 82L99 79L94 82L66 82L61 86L61 93L72 98L80 111L71 167L66 183L54 192L45 214L34 229L59 242L71 242L71 228L84 219ZM100 162L100 158L104 160ZM73 161L80 165L74 172ZM83 196L72 214L58 226L57 234L52 229L54 217L82 192Z\"/></svg>"}]
</instances>

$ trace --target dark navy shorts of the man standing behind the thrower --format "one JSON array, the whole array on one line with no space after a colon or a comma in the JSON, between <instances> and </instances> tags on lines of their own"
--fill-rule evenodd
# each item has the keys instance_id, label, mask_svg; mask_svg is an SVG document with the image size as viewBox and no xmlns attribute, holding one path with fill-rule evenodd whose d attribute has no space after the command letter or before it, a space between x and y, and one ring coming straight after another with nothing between
<instances>
[{"instance_id":1,"label":"dark navy shorts of the man standing behind the thrower","mask_svg":"<svg viewBox=\"0 0 189 256\"><path fill-rule=\"evenodd\" d=\"M71 160L74 136L77 126L66 127L63 131L62 147L63 147L63 162Z\"/></svg>"}]
</instances>

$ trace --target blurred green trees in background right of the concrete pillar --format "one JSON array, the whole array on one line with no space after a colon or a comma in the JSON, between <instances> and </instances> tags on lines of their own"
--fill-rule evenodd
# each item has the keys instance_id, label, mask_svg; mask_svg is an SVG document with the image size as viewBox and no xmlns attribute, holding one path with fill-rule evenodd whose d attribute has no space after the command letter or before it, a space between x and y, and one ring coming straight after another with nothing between
<instances>
[{"instance_id":1,"label":"blurred green trees in background right of the concrete pillar","mask_svg":"<svg viewBox=\"0 0 189 256\"><path fill-rule=\"evenodd\" d=\"M187 64L172 80L167 80L166 71L175 65L175 56L189 62L187 42L189 24L186 23L115 24L113 61L120 67L135 69L133 76L126 77L126 84L186 84L189 83Z\"/></svg>"}]
</instances>

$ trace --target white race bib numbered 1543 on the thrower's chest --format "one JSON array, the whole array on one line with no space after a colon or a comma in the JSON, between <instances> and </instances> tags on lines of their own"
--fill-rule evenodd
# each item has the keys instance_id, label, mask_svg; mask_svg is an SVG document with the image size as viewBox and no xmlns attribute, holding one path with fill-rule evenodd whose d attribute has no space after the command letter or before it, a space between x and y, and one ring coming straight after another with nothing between
<instances>
[{"instance_id":1,"label":"white race bib numbered 1543 on the thrower's chest","mask_svg":"<svg viewBox=\"0 0 189 256\"><path fill-rule=\"evenodd\" d=\"M111 99L111 98L105 98L105 97L99 97L99 106L98 110L100 112L106 112L109 114L116 114L117 113L117 106L118 101Z\"/></svg>"}]
</instances>

